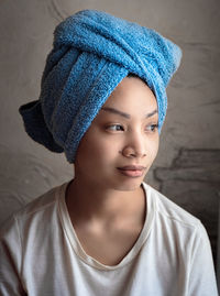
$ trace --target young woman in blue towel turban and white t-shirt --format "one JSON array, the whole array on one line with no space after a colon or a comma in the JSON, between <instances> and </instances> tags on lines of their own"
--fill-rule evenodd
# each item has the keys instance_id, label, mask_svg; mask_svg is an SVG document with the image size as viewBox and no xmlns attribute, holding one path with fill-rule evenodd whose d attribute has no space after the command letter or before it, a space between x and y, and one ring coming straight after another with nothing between
<instances>
[{"instance_id":1,"label":"young woman in blue towel turban and white t-shirt","mask_svg":"<svg viewBox=\"0 0 220 296\"><path fill-rule=\"evenodd\" d=\"M25 130L74 163L73 180L1 230L0 294L218 295L200 221L144 183L180 50L100 11L55 30Z\"/></svg>"}]
</instances>

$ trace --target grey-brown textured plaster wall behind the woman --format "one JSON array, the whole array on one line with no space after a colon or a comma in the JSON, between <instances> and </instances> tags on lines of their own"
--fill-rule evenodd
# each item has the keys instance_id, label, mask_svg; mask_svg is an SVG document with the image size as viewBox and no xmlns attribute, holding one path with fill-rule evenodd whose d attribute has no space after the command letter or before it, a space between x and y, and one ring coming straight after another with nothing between
<instances>
[{"instance_id":1,"label":"grey-brown textured plaster wall behind the woman","mask_svg":"<svg viewBox=\"0 0 220 296\"><path fill-rule=\"evenodd\" d=\"M153 28L183 48L182 66L167 89L167 118L147 182L202 219L216 252L220 191L218 0L1 0L0 222L73 176L63 155L28 138L18 108L37 99L55 25L82 9L105 10Z\"/></svg>"}]
</instances>

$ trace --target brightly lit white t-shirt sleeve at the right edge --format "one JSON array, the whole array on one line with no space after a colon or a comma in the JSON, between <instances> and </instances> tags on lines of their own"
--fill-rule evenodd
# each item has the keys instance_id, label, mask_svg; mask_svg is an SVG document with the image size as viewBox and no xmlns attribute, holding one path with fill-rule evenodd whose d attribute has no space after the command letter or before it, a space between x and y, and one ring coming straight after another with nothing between
<instances>
[{"instance_id":1,"label":"brightly lit white t-shirt sleeve at the right edge","mask_svg":"<svg viewBox=\"0 0 220 296\"><path fill-rule=\"evenodd\" d=\"M191 254L188 296L218 296L211 246L207 231L200 222Z\"/></svg>"}]
</instances>

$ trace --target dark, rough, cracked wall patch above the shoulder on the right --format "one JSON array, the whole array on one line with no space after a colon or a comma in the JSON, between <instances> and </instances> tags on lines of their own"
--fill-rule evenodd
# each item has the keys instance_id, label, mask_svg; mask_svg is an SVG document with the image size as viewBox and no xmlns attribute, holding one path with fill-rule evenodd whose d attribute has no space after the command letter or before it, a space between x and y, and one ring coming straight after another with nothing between
<instances>
[{"instance_id":1,"label":"dark, rough, cracked wall patch above the shoulder on the right","mask_svg":"<svg viewBox=\"0 0 220 296\"><path fill-rule=\"evenodd\" d=\"M220 200L220 150L182 149L168 168L157 167L160 190L201 220L217 257Z\"/></svg>"}]
</instances>

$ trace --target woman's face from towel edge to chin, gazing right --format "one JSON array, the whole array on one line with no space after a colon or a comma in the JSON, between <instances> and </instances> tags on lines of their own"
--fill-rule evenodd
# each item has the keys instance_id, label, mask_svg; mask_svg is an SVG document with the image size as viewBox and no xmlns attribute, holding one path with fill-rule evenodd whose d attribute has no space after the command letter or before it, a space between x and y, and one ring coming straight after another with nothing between
<instances>
[{"instance_id":1,"label":"woman's face from towel edge to chin, gazing right","mask_svg":"<svg viewBox=\"0 0 220 296\"><path fill-rule=\"evenodd\" d=\"M140 187L158 150L157 102L136 77L114 89L80 141L75 178L107 189Z\"/></svg>"}]
</instances>

